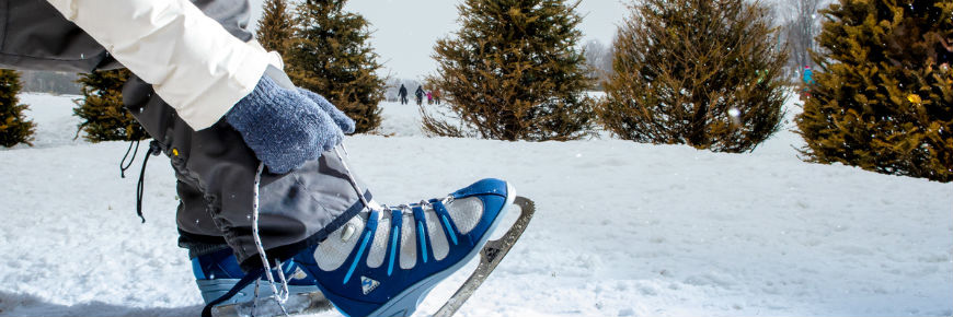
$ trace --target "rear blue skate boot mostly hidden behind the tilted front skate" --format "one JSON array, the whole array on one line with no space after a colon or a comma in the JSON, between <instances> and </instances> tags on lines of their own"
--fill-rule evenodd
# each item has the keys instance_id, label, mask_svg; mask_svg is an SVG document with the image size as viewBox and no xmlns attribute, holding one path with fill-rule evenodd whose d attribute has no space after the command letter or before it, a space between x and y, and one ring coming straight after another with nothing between
<instances>
[{"instance_id":1,"label":"rear blue skate boot mostly hidden behind the tilted front skate","mask_svg":"<svg viewBox=\"0 0 953 317\"><path fill-rule=\"evenodd\" d=\"M307 271L294 261L286 261L282 270L288 282L288 301L284 303L284 309L289 314L311 310L324 310L330 304L314 285L315 280ZM209 255L198 256L192 259L192 271L195 282L202 292L202 300L206 304L228 293L245 273L239 267L239 262L230 248L226 248ZM251 283L242 287L228 301L216 304L213 310L216 316L254 316L254 315L280 315L282 307L275 306L272 297L274 292L265 283L257 285ZM257 287L257 290L256 290ZM255 292L257 291L257 295Z\"/></svg>"}]
</instances>

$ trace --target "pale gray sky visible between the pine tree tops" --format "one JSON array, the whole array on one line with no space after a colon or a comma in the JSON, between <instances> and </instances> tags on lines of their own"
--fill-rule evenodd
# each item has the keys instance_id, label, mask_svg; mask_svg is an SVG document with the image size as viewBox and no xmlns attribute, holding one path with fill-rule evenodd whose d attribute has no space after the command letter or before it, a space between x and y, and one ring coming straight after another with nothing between
<instances>
[{"instance_id":1,"label":"pale gray sky visible between the pine tree tops","mask_svg":"<svg viewBox=\"0 0 953 317\"><path fill-rule=\"evenodd\" d=\"M262 0L251 0L252 20L262 14ZM380 55L383 74L418 79L436 71L430 55L437 39L459 30L457 4L448 0L351 0L345 10L364 15L371 23L371 45ZM576 12L583 15L583 40L609 45L617 26L628 15L620 0L583 0ZM254 27L256 23L252 23Z\"/></svg>"}]
</instances>

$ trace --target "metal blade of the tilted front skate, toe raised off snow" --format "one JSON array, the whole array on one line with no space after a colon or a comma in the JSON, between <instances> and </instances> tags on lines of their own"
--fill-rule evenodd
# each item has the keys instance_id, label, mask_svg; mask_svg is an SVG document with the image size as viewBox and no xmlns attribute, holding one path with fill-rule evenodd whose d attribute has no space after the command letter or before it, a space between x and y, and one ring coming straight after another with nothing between
<instances>
[{"instance_id":1,"label":"metal blade of the tilted front skate, toe raised off snow","mask_svg":"<svg viewBox=\"0 0 953 317\"><path fill-rule=\"evenodd\" d=\"M447 303L445 303L444 306L434 314L435 317L449 317L453 315L453 313L457 313L457 310L463 306L463 303L473 295L473 292L483 284L486 277L496 269L500 261L506 257L506 254L509 253L509 249L513 248L513 245L516 244L516 240L519 239L519 236L523 235L524 231L526 231L526 226L529 225L529 221L536 212L536 203L533 203L532 200L520 196L517 196L513 203L518 206L520 209L519 218L515 223L513 223L513 226L509 227L509 231L507 231L503 237L486 242L486 245L484 245L483 249L480 250L480 265L476 267L476 270L470 274L467 282L463 282L463 285L460 285L460 287L457 289L453 296L450 296L450 300L447 300Z\"/></svg>"}]
</instances>

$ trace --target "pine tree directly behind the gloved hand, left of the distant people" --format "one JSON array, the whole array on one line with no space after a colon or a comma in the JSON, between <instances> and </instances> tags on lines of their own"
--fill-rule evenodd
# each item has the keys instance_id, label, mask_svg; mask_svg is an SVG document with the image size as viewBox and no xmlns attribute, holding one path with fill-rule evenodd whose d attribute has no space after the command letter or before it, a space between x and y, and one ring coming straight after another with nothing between
<instances>
[{"instance_id":1,"label":"pine tree directly behind the gloved hand, left of the distant people","mask_svg":"<svg viewBox=\"0 0 953 317\"><path fill-rule=\"evenodd\" d=\"M286 69L299 87L324 95L356 122L356 132L380 126L378 103L384 80L374 52L369 23L344 12L346 0L307 0L298 4L295 36Z\"/></svg>"}]
</instances>

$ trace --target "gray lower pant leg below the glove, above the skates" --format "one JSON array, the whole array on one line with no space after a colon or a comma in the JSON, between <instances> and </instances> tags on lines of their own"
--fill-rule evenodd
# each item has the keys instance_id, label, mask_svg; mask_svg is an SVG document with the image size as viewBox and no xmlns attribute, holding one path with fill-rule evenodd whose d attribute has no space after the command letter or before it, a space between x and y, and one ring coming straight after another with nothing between
<instances>
[{"instance_id":1,"label":"gray lower pant leg below the glove, above the skates","mask_svg":"<svg viewBox=\"0 0 953 317\"><path fill-rule=\"evenodd\" d=\"M243 267L261 266L251 230L260 162L241 134L223 119L210 128L193 130L151 85L135 75L126 82L123 99L171 158L182 199L176 215L180 230L220 236ZM259 228L269 257L294 256L360 211L363 204L343 160L329 151L289 174L262 175ZM367 191L365 197L371 198Z\"/></svg>"}]
</instances>

